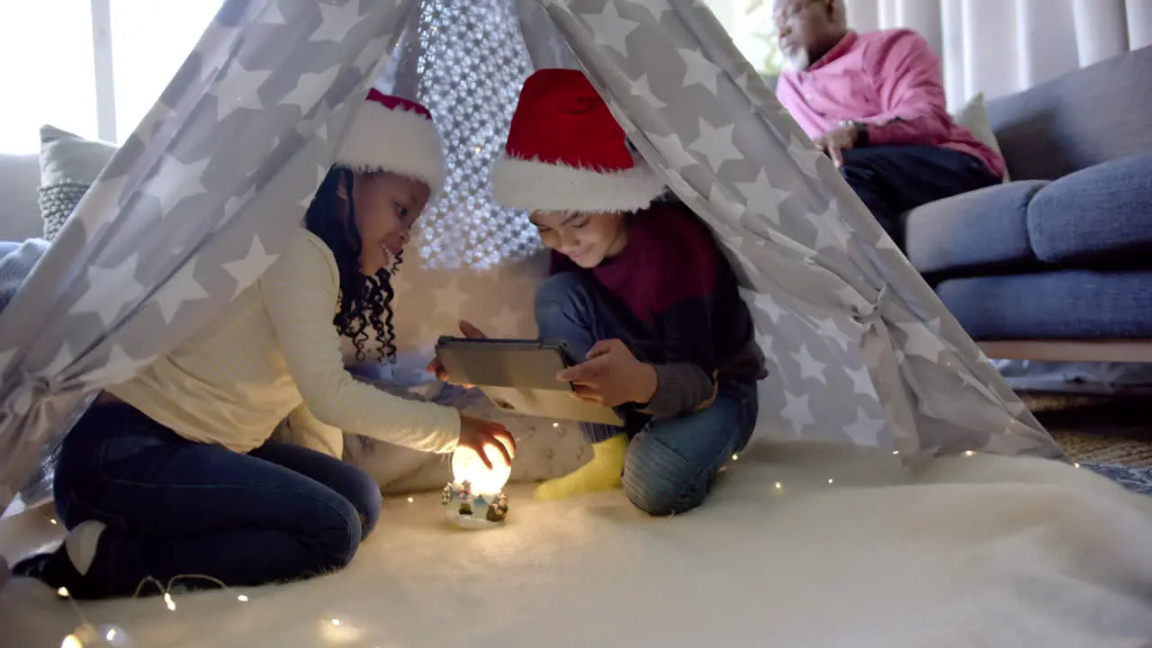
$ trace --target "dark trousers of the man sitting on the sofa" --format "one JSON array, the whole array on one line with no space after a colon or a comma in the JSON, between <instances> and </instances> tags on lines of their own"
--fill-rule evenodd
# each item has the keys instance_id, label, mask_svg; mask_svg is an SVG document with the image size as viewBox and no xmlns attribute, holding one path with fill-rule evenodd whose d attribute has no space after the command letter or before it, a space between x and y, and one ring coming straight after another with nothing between
<instances>
[{"instance_id":1,"label":"dark trousers of the man sitting on the sofa","mask_svg":"<svg viewBox=\"0 0 1152 648\"><path fill-rule=\"evenodd\" d=\"M840 173L901 247L900 214L1001 181L979 158L940 146L851 149L844 151Z\"/></svg>"}]
</instances>

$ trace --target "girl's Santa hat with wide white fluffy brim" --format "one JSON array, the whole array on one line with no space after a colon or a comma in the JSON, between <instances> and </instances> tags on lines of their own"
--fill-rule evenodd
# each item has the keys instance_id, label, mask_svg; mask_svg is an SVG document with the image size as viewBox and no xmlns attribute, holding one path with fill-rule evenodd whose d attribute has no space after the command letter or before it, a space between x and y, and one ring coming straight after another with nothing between
<instances>
[{"instance_id":1,"label":"girl's Santa hat with wide white fluffy brim","mask_svg":"<svg viewBox=\"0 0 1152 648\"><path fill-rule=\"evenodd\" d=\"M432 113L417 101L374 88L348 127L334 161L361 173L388 171L419 180L433 196L444 189L448 174Z\"/></svg>"}]
</instances>

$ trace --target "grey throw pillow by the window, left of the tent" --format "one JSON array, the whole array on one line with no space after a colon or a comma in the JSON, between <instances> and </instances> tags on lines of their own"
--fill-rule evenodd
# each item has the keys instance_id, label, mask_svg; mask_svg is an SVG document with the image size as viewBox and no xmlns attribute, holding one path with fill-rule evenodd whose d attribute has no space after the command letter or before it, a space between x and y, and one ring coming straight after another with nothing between
<instances>
[{"instance_id":1,"label":"grey throw pillow by the window, left of the tent","mask_svg":"<svg viewBox=\"0 0 1152 648\"><path fill-rule=\"evenodd\" d=\"M96 182L116 146L85 140L54 126L40 128L40 218L44 238L55 238Z\"/></svg>"}]
</instances>

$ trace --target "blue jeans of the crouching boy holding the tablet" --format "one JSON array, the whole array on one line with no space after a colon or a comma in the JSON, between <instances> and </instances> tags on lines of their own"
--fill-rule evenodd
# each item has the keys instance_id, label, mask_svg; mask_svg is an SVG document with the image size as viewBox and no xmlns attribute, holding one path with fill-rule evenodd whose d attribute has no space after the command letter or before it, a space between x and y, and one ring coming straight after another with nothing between
<instances>
[{"instance_id":1,"label":"blue jeans of the crouching boy holding the tablet","mask_svg":"<svg viewBox=\"0 0 1152 648\"><path fill-rule=\"evenodd\" d=\"M536 324L541 339L563 341L577 360L598 340L620 339L637 359L664 361L654 333L585 273L555 274L540 286ZM624 493L642 511L670 515L704 502L725 461L751 437L758 407L755 382L721 380L715 401L699 412L651 419L623 406L617 409L623 428L581 423L581 430L589 443L620 434L631 437Z\"/></svg>"}]
</instances>

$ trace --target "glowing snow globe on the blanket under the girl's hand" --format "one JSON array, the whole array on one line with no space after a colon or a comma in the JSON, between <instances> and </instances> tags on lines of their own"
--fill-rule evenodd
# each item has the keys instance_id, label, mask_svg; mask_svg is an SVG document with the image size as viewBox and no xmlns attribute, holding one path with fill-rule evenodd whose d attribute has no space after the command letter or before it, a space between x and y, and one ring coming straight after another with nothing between
<instances>
[{"instance_id":1,"label":"glowing snow globe on the blanket under the girl's hand","mask_svg":"<svg viewBox=\"0 0 1152 648\"><path fill-rule=\"evenodd\" d=\"M511 466L503 453L485 447L492 468L470 447L457 447L452 455L452 483L444 487L440 504L448 521L465 529L500 526L508 515L508 496L505 484Z\"/></svg>"}]
</instances>

